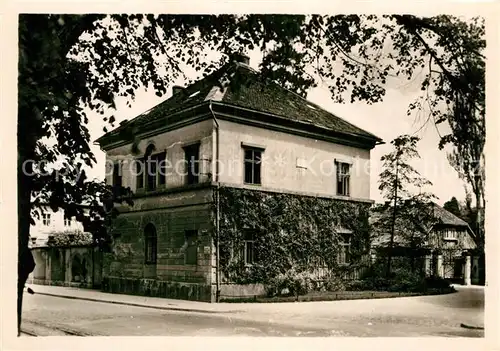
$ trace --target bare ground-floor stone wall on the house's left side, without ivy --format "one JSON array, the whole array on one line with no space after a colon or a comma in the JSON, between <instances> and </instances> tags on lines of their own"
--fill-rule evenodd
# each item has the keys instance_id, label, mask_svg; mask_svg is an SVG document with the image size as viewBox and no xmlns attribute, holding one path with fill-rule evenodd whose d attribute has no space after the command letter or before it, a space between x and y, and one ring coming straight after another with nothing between
<instances>
[{"instance_id":1,"label":"bare ground-floor stone wall on the house's left side, without ivy","mask_svg":"<svg viewBox=\"0 0 500 351\"><path fill-rule=\"evenodd\" d=\"M103 290L210 301L214 275L211 189L134 200L114 222L114 245L104 255ZM156 209L155 209L156 208ZM146 263L146 226L157 237L156 264ZM186 231L197 232L196 264L187 264Z\"/></svg>"}]
</instances>

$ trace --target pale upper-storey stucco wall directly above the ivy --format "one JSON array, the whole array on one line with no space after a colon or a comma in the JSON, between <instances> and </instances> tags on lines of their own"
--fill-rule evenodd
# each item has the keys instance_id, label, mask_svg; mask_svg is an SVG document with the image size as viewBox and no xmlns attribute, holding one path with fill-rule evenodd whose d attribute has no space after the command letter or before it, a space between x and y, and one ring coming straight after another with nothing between
<instances>
[{"instance_id":1,"label":"pale upper-storey stucco wall directly above the ivy","mask_svg":"<svg viewBox=\"0 0 500 351\"><path fill-rule=\"evenodd\" d=\"M264 128L220 121L219 180L227 185L243 185L245 145L263 148L263 189L335 197L335 161L351 167L349 198L370 200L370 150ZM341 198L341 197L340 197Z\"/></svg>"}]
</instances>

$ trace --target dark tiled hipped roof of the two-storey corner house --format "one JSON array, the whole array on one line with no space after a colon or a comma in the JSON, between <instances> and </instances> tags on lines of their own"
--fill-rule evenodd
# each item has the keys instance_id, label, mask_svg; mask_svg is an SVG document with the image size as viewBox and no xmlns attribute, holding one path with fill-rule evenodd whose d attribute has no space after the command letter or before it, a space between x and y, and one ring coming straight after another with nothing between
<instances>
[{"instance_id":1,"label":"dark tiled hipped roof of the two-storey corner house","mask_svg":"<svg viewBox=\"0 0 500 351\"><path fill-rule=\"evenodd\" d=\"M222 89L220 82L223 77L229 77L228 85L224 89ZM257 112L278 115L297 122L313 124L338 133L380 140L377 136L335 116L300 95L284 89L276 83L262 79L257 71L238 63L226 64L101 138L115 135L127 125L140 127L210 99Z\"/></svg>"}]
</instances>

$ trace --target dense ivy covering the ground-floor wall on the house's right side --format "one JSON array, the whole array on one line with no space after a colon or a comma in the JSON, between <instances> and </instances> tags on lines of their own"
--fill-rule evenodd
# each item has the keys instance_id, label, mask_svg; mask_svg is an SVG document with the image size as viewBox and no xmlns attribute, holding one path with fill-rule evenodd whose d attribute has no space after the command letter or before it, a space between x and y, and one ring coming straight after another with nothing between
<instances>
[{"instance_id":1,"label":"dense ivy covering the ground-floor wall on the house's right side","mask_svg":"<svg viewBox=\"0 0 500 351\"><path fill-rule=\"evenodd\" d=\"M216 190L217 191L217 190ZM330 272L356 267L369 251L369 203L221 187L221 271L234 283L268 283L319 266ZM350 262L339 264L342 231L352 232ZM254 234L256 262L245 266L245 232Z\"/></svg>"}]
</instances>

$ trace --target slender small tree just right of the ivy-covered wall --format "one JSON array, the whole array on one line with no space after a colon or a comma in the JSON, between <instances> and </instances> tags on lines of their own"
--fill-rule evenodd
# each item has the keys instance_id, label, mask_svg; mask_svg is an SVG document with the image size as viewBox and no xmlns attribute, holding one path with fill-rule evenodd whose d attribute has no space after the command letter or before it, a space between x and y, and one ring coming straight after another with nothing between
<instances>
[{"instance_id":1,"label":"slender small tree just right of the ivy-covered wall","mask_svg":"<svg viewBox=\"0 0 500 351\"><path fill-rule=\"evenodd\" d=\"M387 250L388 277L391 274L396 232L400 245L416 249L426 242L434 224L430 206L434 196L421 191L432 183L409 164L412 159L420 157L417 151L418 140L415 136L399 136L391 141L394 150L381 158L383 170L380 173L379 190L386 199L386 205L377 209L379 213L375 227L379 234L390 233ZM418 193L415 194L415 190Z\"/></svg>"}]
</instances>

